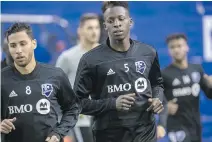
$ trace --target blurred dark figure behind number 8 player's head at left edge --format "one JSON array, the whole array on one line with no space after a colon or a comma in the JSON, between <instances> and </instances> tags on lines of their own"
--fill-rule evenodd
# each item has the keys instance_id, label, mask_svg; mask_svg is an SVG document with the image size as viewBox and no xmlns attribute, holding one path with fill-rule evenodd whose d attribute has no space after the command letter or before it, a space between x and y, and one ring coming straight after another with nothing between
<instances>
[{"instance_id":1,"label":"blurred dark figure behind number 8 player's head at left edge","mask_svg":"<svg viewBox=\"0 0 212 142\"><path fill-rule=\"evenodd\" d=\"M1 69L3 69L4 67L13 64L13 58L11 57L10 53L9 53L9 48L8 48L8 44L7 44L7 39L4 39L4 43L3 43L3 52L6 54L4 60L1 61Z\"/></svg>"}]
</instances>

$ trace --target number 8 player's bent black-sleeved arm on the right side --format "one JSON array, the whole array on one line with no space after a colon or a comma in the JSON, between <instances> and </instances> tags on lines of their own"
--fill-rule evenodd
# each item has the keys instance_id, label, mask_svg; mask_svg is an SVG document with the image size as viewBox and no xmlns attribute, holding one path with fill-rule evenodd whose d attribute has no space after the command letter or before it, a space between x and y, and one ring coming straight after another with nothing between
<instances>
[{"instance_id":1,"label":"number 8 player's bent black-sleeved arm on the right side","mask_svg":"<svg viewBox=\"0 0 212 142\"><path fill-rule=\"evenodd\" d=\"M56 97L62 110L62 118L59 125L57 125L51 135L64 137L70 129L77 123L78 116L81 111L79 98L72 90L71 84L66 74L61 70L61 75L58 80L60 81L59 92Z\"/></svg>"}]
</instances>

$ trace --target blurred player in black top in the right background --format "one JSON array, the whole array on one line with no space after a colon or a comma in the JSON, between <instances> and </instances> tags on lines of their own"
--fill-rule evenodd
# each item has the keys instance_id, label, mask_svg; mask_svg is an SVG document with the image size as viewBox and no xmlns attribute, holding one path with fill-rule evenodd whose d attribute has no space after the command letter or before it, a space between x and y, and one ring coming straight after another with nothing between
<instances>
[{"instance_id":1,"label":"blurred player in black top in the right background","mask_svg":"<svg viewBox=\"0 0 212 142\"><path fill-rule=\"evenodd\" d=\"M162 71L168 101L167 130L171 142L201 142L199 93L212 98L212 77L201 65L187 61L187 38L184 34L168 36L173 63Z\"/></svg>"}]
</instances>

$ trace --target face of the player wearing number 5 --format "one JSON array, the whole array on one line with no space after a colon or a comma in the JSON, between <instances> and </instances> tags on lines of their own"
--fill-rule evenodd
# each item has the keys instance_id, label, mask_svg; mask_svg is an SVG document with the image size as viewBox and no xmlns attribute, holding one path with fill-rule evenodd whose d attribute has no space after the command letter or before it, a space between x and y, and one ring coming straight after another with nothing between
<instances>
[{"instance_id":1,"label":"face of the player wearing number 5","mask_svg":"<svg viewBox=\"0 0 212 142\"><path fill-rule=\"evenodd\" d=\"M121 6L108 8L104 13L105 30L113 40L123 40L130 34L132 19L127 9Z\"/></svg>"}]
</instances>

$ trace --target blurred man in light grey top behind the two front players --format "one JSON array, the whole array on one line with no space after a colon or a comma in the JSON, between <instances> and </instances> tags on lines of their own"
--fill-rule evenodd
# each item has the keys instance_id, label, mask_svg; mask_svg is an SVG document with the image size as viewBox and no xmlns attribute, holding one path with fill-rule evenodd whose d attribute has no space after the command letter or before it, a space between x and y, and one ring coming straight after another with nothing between
<instances>
[{"instance_id":1,"label":"blurred man in light grey top behind the two front players","mask_svg":"<svg viewBox=\"0 0 212 142\"><path fill-rule=\"evenodd\" d=\"M100 25L96 14L85 14L80 19L77 30L78 44L64 51L58 58L56 66L61 67L68 75L71 84L74 84L76 70L82 55L96 47L100 38Z\"/></svg>"}]
</instances>

